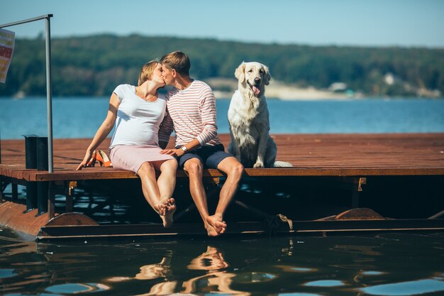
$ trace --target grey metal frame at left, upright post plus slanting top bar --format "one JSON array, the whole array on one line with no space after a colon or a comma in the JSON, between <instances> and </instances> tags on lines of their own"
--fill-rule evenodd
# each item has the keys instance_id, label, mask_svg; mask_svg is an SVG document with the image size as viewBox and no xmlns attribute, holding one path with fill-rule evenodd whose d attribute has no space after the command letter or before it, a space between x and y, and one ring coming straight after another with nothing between
<instances>
[{"instance_id":1,"label":"grey metal frame at left, upright post plus slanting top bar","mask_svg":"<svg viewBox=\"0 0 444 296\"><path fill-rule=\"evenodd\" d=\"M28 18L23 21L16 21L13 23L5 23L0 25L0 28L6 28L22 23L30 23L32 21L40 21L45 19L46 37L45 37L45 49L46 49L46 104L48 115L48 172L53 172L54 166L52 163L52 78L51 78L51 30L50 30L50 18L52 14L45 14L44 16L37 16L35 18Z\"/></svg>"}]
</instances>

